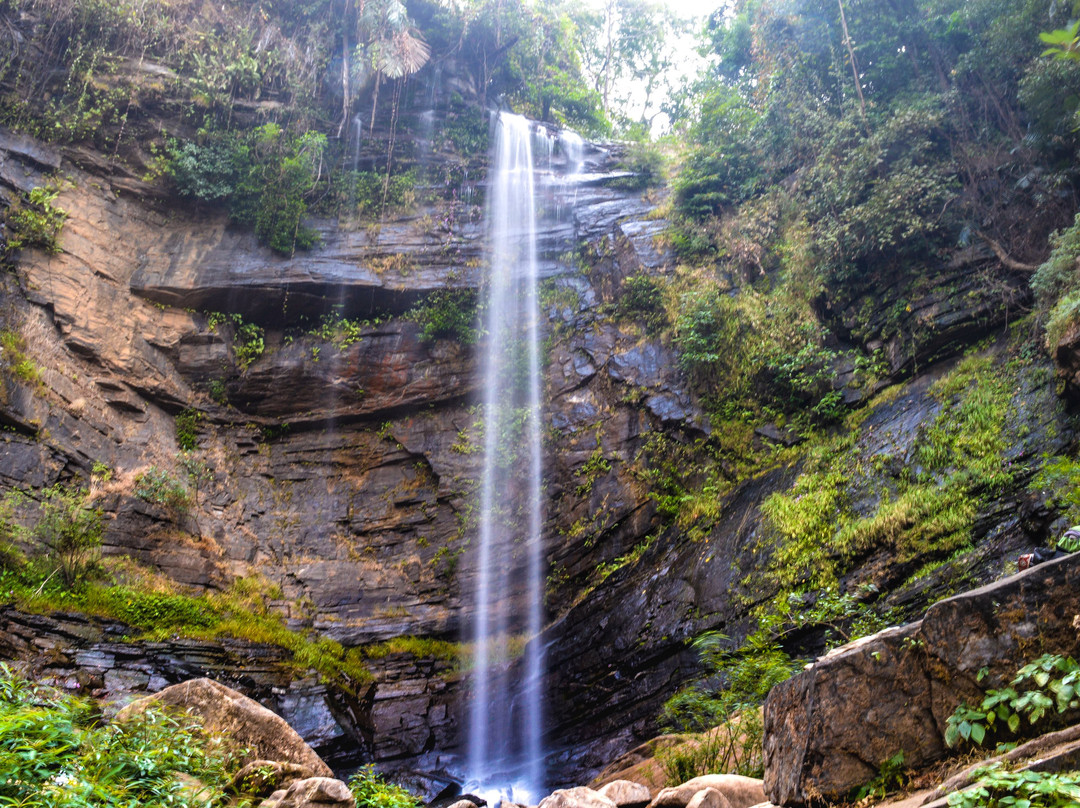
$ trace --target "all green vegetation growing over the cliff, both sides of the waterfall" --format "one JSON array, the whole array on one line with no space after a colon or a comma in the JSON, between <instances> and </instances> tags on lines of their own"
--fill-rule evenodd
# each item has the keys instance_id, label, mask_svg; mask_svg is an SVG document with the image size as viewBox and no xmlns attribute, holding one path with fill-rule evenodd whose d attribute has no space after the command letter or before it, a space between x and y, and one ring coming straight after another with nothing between
<instances>
[{"instance_id":1,"label":"all green vegetation growing over the cliff, both sides of the waterfall","mask_svg":"<svg viewBox=\"0 0 1080 808\"><path fill-rule=\"evenodd\" d=\"M594 516L608 500L593 496L609 475L648 490L648 525L613 541L606 563L579 565L589 568L577 578L553 571L553 588L584 597L617 571L652 563L667 542L707 548L732 497L768 473L786 473L762 487L757 529L732 560L729 594L745 624L727 629L734 638L708 634L699 644L706 679L669 703L666 717L679 728L735 717L739 735L727 740L753 740L756 703L802 654L914 614L973 580L976 563L986 574L980 542L1001 502L1041 496L1052 512L1043 523L1077 512L1075 448L1047 460L1027 443L1029 432L1049 433L1065 419L1043 348L1080 322L1080 62L1068 56L1072 40L1039 38L1070 30L1077 12L1049 0L727 4L704 31L712 67L670 98L677 137L627 150L623 166L635 176L612 180L659 201L673 225L657 243L674 251L677 266L612 273L610 294L588 322L572 320L582 308L576 288L548 288L545 306L569 311L567 323L597 331L613 323L621 337L671 349L705 416L690 423L650 415L651 391L627 387L619 406L637 426L626 430L635 441L626 458L602 440L610 413L596 416L595 445L568 461L563 486L591 512L562 538L603 543ZM658 31L676 27L631 0L602 13L484 0L213 8L0 0L0 43L10 45L0 49L0 123L69 154L96 152L118 175L147 184L139 187L167 189L166 208L227 214L282 255L318 246L315 217L359 230L432 199L459 204L462 178L483 172L487 106L508 104L592 134L642 134L648 116L627 111L619 82L631 77L654 92L671 60ZM1042 54L1048 43L1062 58ZM441 71L455 81L440 83ZM438 112L433 122L422 117L429 107ZM432 150L445 159L426 162ZM664 202L656 186L669 159ZM6 251L57 247L64 211L55 200L55 188L42 186L13 201ZM447 252L456 226L450 214L418 225L437 232L436 248ZM623 244L611 241L570 256L582 275L617 261ZM474 289L417 297L399 311L424 347L483 338ZM1017 322L1032 301L1034 315ZM234 312L202 319L244 374L294 338L321 340L310 346L312 362L327 345L345 351L383 322L375 313L361 321L334 309L302 331ZM26 339L0 336L5 374L40 382ZM943 359L953 366L934 367ZM874 444L874 419L892 413L906 394L900 385L928 367L939 378L912 404L932 410L912 427L915 436ZM228 406L220 379L199 389ZM217 425L200 420L200 402L167 400L171 412L181 406L177 443L188 455L170 461L194 482L207 469L199 431ZM472 425L474 415L457 425L451 452L474 450L470 430L483 427ZM259 426L264 436L287 431L287 423ZM396 450L416 453L408 460L416 479L435 476L411 448L418 439L399 444L384 432ZM551 440L564 437L553 426ZM269 455L269 443L258 450ZM185 514L198 511L198 485L192 506L188 486L160 467L144 468L133 484L174 527L191 528ZM442 477L432 487L424 517L440 497L453 498ZM270 642L328 677L366 675L363 655L286 628L265 581L241 578L193 596L122 576L80 580L79 570L96 569L99 535L85 524L95 507L76 488L56 490L56 499L32 493L41 513L31 520L33 529L51 530L32 541L56 563L9 553L0 580L11 602L79 608L151 634ZM51 507L81 533L53 525ZM453 507L463 534L470 506L455 499ZM351 520L350 510L342 524ZM201 538L197 522L193 533ZM338 557L366 561L369 549L350 546ZM397 571L410 564L401 561ZM906 600L897 603L896 593ZM453 654L420 641L409 647ZM715 766L717 748L702 749L671 766L679 776ZM735 754L731 743L725 749ZM753 754L743 759L756 766Z\"/></svg>"}]
</instances>

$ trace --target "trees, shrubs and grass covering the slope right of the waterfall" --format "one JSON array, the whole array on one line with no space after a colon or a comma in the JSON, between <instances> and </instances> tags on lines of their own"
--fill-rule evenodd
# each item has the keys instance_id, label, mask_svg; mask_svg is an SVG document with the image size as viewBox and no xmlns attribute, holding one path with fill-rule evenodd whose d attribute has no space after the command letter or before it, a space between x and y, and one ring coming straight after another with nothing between
<instances>
[{"instance_id":1,"label":"trees, shrubs and grass covering the slope right of the waterfall","mask_svg":"<svg viewBox=\"0 0 1080 808\"><path fill-rule=\"evenodd\" d=\"M678 349L715 432L697 452L643 459L699 540L726 493L778 463L797 474L762 501L753 557L734 562L757 630L704 657L702 683L667 703L674 726L742 727L764 693L739 671L786 675L783 651L820 648L808 635L837 624L822 609L838 593L853 636L901 617L890 594L927 580L953 591L991 502L1041 464L1018 448L1021 390L1047 387L1042 335L1053 347L1080 311L1080 64L1048 58L1039 37L1069 13L1041 0L750 0L713 16L714 67L672 180L684 266L661 283L666 315L651 327ZM864 421L900 392L885 382L955 355L934 346L934 307L958 299L963 272L983 284L968 301L1018 288L1036 317L935 382L940 409L914 453L893 457L888 440L868 450ZM766 426L801 445L762 447ZM711 738L676 763L693 770Z\"/></svg>"}]
</instances>

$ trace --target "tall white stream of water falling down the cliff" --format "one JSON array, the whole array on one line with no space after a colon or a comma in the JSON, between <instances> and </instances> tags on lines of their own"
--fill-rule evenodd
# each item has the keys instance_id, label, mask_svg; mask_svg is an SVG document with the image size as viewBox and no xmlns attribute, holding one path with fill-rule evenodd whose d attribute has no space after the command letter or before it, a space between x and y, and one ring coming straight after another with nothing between
<instances>
[{"instance_id":1,"label":"tall white stream of water falling down the cliff","mask_svg":"<svg viewBox=\"0 0 1080 808\"><path fill-rule=\"evenodd\" d=\"M526 645L521 682L501 674L510 637L538 637L543 619L536 174L532 124L500 113L494 132L468 787L527 803L543 786L541 644Z\"/></svg>"}]
</instances>

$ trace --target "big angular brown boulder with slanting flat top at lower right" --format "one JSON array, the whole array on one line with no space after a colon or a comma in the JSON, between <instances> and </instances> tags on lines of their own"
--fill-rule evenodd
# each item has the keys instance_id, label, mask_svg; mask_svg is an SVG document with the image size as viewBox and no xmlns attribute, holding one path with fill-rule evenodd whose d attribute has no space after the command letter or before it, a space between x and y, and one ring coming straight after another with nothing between
<instances>
[{"instance_id":1,"label":"big angular brown boulder with slanting flat top at lower right","mask_svg":"<svg viewBox=\"0 0 1080 808\"><path fill-rule=\"evenodd\" d=\"M1001 687L1041 654L1080 650L1078 616L1080 554L941 601L917 623L829 652L766 701L769 799L839 798L899 752L912 767L940 758L961 701Z\"/></svg>"}]
</instances>

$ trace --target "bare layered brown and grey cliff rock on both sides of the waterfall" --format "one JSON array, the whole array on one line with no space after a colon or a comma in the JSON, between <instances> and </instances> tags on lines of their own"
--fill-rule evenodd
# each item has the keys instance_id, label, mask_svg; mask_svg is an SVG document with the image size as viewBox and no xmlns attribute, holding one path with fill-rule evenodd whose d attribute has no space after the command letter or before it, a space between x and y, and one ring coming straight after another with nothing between
<instances>
[{"instance_id":1,"label":"bare layered brown and grey cliff rock on both sides of the waterfall","mask_svg":"<svg viewBox=\"0 0 1080 808\"><path fill-rule=\"evenodd\" d=\"M770 540L761 502L800 470L738 482L703 537L658 516L643 474L649 447L658 437L692 446L711 427L669 341L612 315L626 278L664 277L675 264L657 199L612 187L617 159L616 147L592 150L572 205L549 212L541 239L551 624L540 642L555 660L545 689L556 782L582 781L654 732L662 701L699 670L689 639L745 634L750 605L770 594L744 583L760 561L754 549ZM220 213L174 204L84 154L0 135L5 198L57 170L67 178L57 204L69 214L62 252L24 252L0 278L0 331L18 337L37 368L19 375L5 360L0 486L85 480L104 463L113 474L99 493L107 553L197 589L259 581L280 590L272 606L292 625L346 645L458 638L469 620L483 440L476 360L455 339L426 339L405 312L432 289L481 283L480 208L434 199L363 228L314 223L322 246L284 258ZM433 224L450 214L453 233ZM841 356L881 348L890 378L901 379L997 333L1025 292L1008 278L973 284L971 270L993 267L982 254L966 260L930 281L901 279L885 295L868 283L834 301L826 317L848 340ZM356 323L348 338L334 325L340 318ZM247 324L262 329L257 355L245 346ZM850 364L838 362L835 385L855 404L873 391L853 383ZM934 373L869 407L856 441L867 468L877 458L887 476L914 463L941 408ZM1068 417L1049 376L1018 386L1014 402L1024 434L1011 459L1034 468L1039 453L1071 440ZM193 454L210 480L191 511L176 513L134 496L132 481L151 467L183 476L176 416L185 410L198 413ZM864 511L875 504L872 476L854 480ZM1000 553L1044 528L1045 513L1025 500L1028 479L996 496L976 525L972 577L994 575ZM850 582L900 584L913 571L872 555ZM901 588L896 605L945 580ZM118 697L179 681L178 671L234 677L316 749L336 750L332 758L352 744L366 758L437 767L459 741L464 677L445 661L372 660L374 684L346 709L311 683L245 678L249 659L229 657L227 644L121 648L108 628L103 637L99 628L6 619L9 654L33 655L44 647L36 635L56 636L51 675L99 676ZM314 704L309 717L291 717L289 700Z\"/></svg>"}]
</instances>

